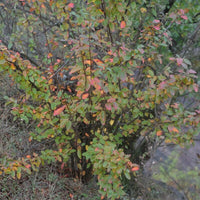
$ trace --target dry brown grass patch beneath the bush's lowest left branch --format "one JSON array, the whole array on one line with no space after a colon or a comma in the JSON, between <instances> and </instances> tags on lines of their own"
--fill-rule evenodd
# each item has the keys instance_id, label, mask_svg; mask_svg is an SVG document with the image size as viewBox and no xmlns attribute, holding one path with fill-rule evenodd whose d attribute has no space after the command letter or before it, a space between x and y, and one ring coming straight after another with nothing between
<instances>
[{"instance_id":1,"label":"dry brown grass patch beneath the bush's lowest left branch","mask_svg":"<svg viewBox=\"0 0 200 200\"><path fill-rule=\"evenodd\" d=\"M3 177L0 181L0 199L8 200L66 200L93 199L96 190L80 182L59 176L49 167L42 168L20 180ZM98 197L96 196L96 198Z\"/></svg>"}]
</instances>

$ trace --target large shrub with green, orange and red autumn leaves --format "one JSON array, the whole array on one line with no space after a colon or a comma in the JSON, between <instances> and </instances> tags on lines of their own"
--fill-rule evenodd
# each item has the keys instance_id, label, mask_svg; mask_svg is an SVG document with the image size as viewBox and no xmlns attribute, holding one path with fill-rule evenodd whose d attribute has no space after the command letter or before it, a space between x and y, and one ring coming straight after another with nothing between
<instances>
[{"instance_id":1,"label":"large shrub with green, orange and red autumn leaves","mask_svg":"<svg viewBox=\"0 0 200 200\"><path fill-rule=\"evenodd\" d=\"M192 143L200 111L187 111L178 97L198 92L196 72L169 50L168 27L187 20L186 11L159 18L156 3L13 1L22 9L12 35L18 43L2 41L0 71L23 93L7 100L15 119L37 124L29 141L49 145L4 160L0 173L20 178L60 162L84 183L97 175L102 199L116 199L124 195L122 176L131 179L139 170L145 138ZM17 32L25 30L27 58L14 50L25 45Z\"/></svg>"}]
</instances>

